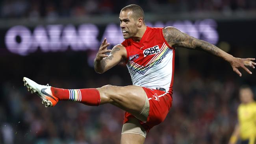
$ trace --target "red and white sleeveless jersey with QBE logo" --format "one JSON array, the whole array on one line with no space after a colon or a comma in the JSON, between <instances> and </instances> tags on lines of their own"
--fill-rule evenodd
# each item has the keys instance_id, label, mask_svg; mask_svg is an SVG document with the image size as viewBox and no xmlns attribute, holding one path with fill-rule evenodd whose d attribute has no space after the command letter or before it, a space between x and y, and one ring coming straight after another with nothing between
<instances>
[{"instance_id":1,"label":"red and white sleeveless jersey with QBE logo","mask_svg":"<svg viewBox=\"0 0 256 144\"><path fill-rule=\"evenodd\" d=\"M164 88L173 93L174 48L163 37L163 28L147 27L139 42L126 39L126 66L133 85L150 89Z\"/></svg>"}]
</instances>

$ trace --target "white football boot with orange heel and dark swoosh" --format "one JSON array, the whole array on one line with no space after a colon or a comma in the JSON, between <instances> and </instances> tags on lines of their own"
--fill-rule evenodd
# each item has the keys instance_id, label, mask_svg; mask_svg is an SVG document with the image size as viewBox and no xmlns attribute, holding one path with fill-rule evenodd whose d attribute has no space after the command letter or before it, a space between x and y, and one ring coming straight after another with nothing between
<instances>
[{"instance_id":1,"label":"white football boot with orange heel and dark swoosh","mask_svg":"<svg viewBox=\"0 0 256 144\"><path fill-rule=\"evenodd\" d=\"M24 86L28 88L28 91L31 93L36 93L42 99L42 103L45 104L45 107L53 107L59 101L58 98L52 95L51 86L39 85L35 81L32 81L29 78L24 77Z\"/></svg>"}]
</instances>

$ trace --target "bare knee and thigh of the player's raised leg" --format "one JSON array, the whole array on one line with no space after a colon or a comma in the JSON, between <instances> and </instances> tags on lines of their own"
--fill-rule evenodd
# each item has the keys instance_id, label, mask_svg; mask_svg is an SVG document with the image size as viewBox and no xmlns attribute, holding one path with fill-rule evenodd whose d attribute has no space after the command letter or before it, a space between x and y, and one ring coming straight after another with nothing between
<instances>
[{"instance_id":1,"label":"bare knee and thigh of the player's raised leg","mask_svg":"<svg viewBox=\"0 0 256 144\"><path fill-rule=\"evenodd\" d=\"M142 87L129 85L118 87L106 85L98 88L100 97L103 99L100 103L112 103L129 113L140 113L145 105L145 91Z\"/></svg>"}]
</instances>

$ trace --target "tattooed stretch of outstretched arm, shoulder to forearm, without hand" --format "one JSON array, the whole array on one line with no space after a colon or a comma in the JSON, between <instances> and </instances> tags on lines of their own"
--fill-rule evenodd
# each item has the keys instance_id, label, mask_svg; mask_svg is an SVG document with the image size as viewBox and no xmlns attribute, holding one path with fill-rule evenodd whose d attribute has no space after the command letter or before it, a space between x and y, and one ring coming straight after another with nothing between
<instances>
[{"instance_id":1,"label":"tattooed stretch of outstretched arm, shoulder to forearm, without hand","mask_svg":"<svg viewBox=\"0 0 256 144\"><path fill-rule=\"evenodd\" d=\"M186 33L182 33L174 27L163 28L163 36L170 46L204 50L210 54L219 56L220 49L209 42L196 39Z\"/></svg>"}]
</instances>

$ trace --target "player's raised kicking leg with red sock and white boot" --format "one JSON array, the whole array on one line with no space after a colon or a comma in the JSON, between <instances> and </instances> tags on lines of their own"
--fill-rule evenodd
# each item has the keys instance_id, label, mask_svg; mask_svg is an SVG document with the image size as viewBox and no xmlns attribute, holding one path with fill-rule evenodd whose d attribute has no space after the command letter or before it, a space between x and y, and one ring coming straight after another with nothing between
<instances>
[{"instance_id":1,"label":"player's raised kicking leg with red sock and white boot","mask_svg":"<svg viewBox=\"0 0 256 144\"><path fill-rule=\"evenodd\" d=\"M143 88L133 85L126 87L106 85L98 89L58 89L39 85L28 78L23 78L23 81L28 90L37 93L41 97L46 107L56 105L59 100L81 102L86 105L111 103L139 117L143 108L145 108L145 103L148 102ZM144 110L148 111L149 107L146 108ZM142 121L145 120L147 120L147 115L144 116Z\"/></svg>"}]
</instances>

